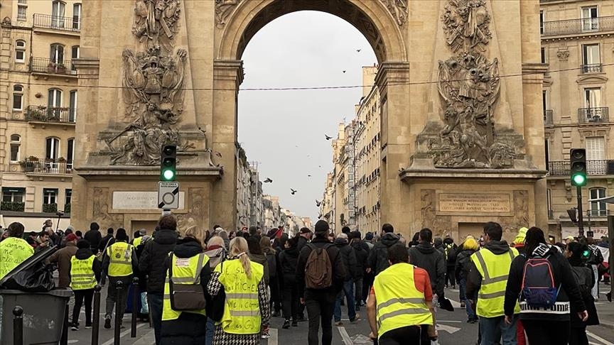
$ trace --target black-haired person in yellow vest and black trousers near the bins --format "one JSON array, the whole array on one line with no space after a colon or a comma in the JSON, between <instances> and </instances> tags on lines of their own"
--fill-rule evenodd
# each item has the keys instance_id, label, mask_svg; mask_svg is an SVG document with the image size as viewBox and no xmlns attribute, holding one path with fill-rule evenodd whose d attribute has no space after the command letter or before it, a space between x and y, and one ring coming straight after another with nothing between
<instances>
[{"instance_id":1,"label":"black-haired person in yellow vest and black trousers near the bins","mask_svg":"<svg viewBox=\"0 0 614 345\"><path fill-rule=\"evenodd\" d=\"M77 253L70 259L70 288L75 293L75 307L72 309L72 330L79 330L79 314L85 300L85 328L92 328L92 299L94 288L100 280L102 264L96 258L90 242L77 242Z\"/></svg>"}]
</instances>

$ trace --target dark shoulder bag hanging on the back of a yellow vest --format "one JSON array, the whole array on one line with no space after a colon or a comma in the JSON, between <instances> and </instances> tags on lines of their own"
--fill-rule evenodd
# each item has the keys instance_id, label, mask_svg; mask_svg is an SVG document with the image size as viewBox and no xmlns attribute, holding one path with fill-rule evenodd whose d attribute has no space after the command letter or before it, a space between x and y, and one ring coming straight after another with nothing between
<instances>
[{"instance_id":1,"label":"dark shoulder bag hanging on the back of a yellow vest","mask_svg":"<svg viewBox=\"0 0 614 345\"><path fill-rule=\"evenodd\" d=\"M203 267L205 254L200 253L198 267ZM171 265L168 267L168 287L171 295L171 309L178 312L203 310L207 306L205 291L200 285L200 270L196 272L193 283L180 284L173 282L173 253L171 253Z\"/></svg>"}]
</instances>

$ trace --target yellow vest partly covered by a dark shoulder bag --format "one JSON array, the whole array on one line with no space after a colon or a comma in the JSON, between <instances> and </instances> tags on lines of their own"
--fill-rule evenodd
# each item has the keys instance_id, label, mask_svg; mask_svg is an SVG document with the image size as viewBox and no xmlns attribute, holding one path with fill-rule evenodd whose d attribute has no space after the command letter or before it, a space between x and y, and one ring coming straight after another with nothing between
<instances>
[{"instance_id":1,"label":"yellow vest partly covered by a dark shoulder bag","mask_svg":"<svg viewBox=\"0 0 614 345\"><path fill-rule=\"evenodd\" d=\"M170 254L169 254L170 255ZM200 284L200 271L204 265L209 264L209 257L200 253L191 258L178 258L173 255L173 283L174 284ZM171 308L171 286L168 284L168 270L166 270L166 283L164 284L164 300L162 307L162 321L178 319L182 312ZM193 314L206 315L205 310L186 311Z\"/></svg>"}]
</instances>

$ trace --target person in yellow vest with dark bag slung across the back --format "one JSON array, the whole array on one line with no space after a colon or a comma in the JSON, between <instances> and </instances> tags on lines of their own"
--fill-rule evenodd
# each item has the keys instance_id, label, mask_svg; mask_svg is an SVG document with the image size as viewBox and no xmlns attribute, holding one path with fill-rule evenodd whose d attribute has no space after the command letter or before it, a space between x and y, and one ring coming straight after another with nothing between
<instances>
[{"instance_id":1,"label":"person in yellow vest with dark bag slung across the back","mask_svg":"<svg viewBox=\"0 0 614 345\"><path fill-rule=\"evenodd\" d=\"M198 283L205 294L205 300L210 302L207 284L211 278L209 257L205 255L202 241L198 238L195 226L185 230L183 239L177 244L171 255L166 258L166 283L162 302L162 326L160 345L204 345L207 324L205 310L181 312L171 306L171 286L169 284L169 267L172 267L173 284ZM172 257L172 260L171 260Z\"/></svg>"}]
</instances>

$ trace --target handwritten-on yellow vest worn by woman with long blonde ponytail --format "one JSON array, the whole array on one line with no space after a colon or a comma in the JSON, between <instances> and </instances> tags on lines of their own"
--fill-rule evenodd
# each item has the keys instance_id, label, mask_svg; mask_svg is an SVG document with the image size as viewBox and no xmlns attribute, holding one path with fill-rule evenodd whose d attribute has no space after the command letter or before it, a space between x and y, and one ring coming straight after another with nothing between
<instances>
[{"instance_id":1,"label":"handwritten-on yellow vest worn by woman with long blonde ponytail","mask_svg":"<svg viewBox=\"0 0 614 345\"><path fill-rule=\"evenodd\" d=\"M247 254L244 254L247 255ZM250 261L252 277L247 278L241 261L229 260L215 267L220 273L220 283L226 292L226 307L222 329L230 334L257 334L260 332L262 317L258 299L258 284L264 275L264 267Z\"/></svg>"}]
</instances>

